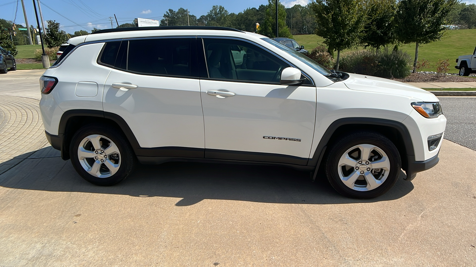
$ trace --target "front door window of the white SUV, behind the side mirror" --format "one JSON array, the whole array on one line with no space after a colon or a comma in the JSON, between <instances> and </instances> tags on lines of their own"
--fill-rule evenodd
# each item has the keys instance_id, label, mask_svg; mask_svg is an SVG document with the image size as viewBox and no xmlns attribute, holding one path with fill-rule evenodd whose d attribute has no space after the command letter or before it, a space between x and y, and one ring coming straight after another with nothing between
<instances>
[{"instance_id":1,"label":"front door window of the white SUV, behind the side mirror","mask_svg":"<svg viewBox=\"0 0 476 267\"><path fill-rule=\"evenodd\" d=\"M210 78L279 82L288 64L262 48L239 40L204 39Z\"/></svg>"}]
</instances>

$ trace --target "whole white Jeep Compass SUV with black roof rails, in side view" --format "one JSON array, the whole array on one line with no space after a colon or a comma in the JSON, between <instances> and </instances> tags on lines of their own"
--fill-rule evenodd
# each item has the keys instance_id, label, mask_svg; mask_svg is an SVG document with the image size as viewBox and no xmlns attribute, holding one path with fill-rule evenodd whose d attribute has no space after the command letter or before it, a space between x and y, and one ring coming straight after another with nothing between
<instances>
[{"instance_id":1,"label":"whole white Jeep Compass SUV with black roof rails, in side view","mask_svg":"<svg viewBox=\"0 0 476 267\"><path fill-rule=\"evenodd\" d=\"M100 30L40 79L51 145L97 185L169 161L276 164L373 198L438 162L438 98L220 27ZM180 172L180 170L177 170ZM311 176L312 177L312 176Z\"/></svg>"}]
</instances>

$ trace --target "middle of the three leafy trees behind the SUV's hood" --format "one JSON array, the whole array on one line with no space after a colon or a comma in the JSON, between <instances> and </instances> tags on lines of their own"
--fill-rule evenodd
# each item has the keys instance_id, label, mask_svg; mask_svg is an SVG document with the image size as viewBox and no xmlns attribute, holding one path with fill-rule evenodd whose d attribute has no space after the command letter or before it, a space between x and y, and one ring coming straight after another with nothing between
<instances>
[{"instance_id":1,"label":"middle of the three leafy trees behind the SUV's hood","mask_svg":"<svg viewBox=\"0 0 476 267\"><path fill-rule=\"evenodd\" d=\"M395 37L395 0L368 0L366 5L367 19L361 43L378 50L378 48L396 42Z\"/></svg>"}]
</instances>

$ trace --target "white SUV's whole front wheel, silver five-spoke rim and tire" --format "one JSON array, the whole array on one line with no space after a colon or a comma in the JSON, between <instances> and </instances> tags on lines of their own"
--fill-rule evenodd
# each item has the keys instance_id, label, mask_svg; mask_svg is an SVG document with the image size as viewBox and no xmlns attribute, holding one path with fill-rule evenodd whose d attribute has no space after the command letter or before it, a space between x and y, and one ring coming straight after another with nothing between
<instances>
[{"instance_id":1,"label":"white SUV's whole front wheel, silver five-spoke rim and tire","mask_svg":"<svg viewBox=\"0 0 476 267\"><path fill-rule=\"evenodd\" d=\"M346 197L370 199L397 182L400 154L386 136L374 132L347 134L328 150L326 176Z\"/></svg>"}]
</instances>

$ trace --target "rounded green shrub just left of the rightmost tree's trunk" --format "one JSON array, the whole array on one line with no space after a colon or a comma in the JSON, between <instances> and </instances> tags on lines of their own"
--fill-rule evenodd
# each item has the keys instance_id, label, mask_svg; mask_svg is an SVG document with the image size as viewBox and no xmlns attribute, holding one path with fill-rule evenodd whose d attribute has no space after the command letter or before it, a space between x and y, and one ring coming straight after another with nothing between
<instances>
[{"instance_id":1,"label":"rounded green shrub just left of the rightmost tree's trunk","mask_svg":"<svg viewBox=\"0 0 476 267\"><path fill-rule=\"evenodd\" d=\"M384 78L405 78L410 74L411 57L401 50L385 48L377 53L378 70L376 76Z\"/></svg>"}]
</instances>

